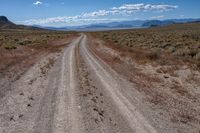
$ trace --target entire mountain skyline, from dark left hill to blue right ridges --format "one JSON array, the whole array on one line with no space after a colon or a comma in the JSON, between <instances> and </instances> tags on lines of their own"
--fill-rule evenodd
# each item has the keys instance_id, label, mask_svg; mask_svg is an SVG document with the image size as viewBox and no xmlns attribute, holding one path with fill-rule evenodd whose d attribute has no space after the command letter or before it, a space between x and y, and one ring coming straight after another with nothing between
<instances>
[{"instance_id":1,"label":"entire mountain skyline, from dark left hill to blue right ridges","mask_svg":"<svg viewBox=\"0 0 200 133\"><path fill-rule=\"evenodd\" d=\"M39 25L24 26L16 25L9 21L7 17L0 16L0 29L48 29L61 31L96 31L96 30L115 30L115 29L133 29L133 28L148 28L156 26L165 26L176 23L191 23L200 22L200 19L168 19L168 20L132 20L110 23L97 23L81 26L66 26L66 27L44 27Z\"/></svg>"}]
</instances>

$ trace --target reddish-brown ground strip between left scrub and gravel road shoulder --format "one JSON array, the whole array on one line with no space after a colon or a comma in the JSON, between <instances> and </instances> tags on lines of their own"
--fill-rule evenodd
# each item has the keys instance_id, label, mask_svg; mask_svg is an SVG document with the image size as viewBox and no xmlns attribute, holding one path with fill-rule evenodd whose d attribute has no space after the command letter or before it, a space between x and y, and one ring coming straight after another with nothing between
<instances>
[{"instance_id":1,"label":"reddish-brown ground strip between left scrub and gravel road shoulder","mask_svg":"<svg viewBox=\"0 0 200 133\"><path fill-rule=\"evenodd\" d=\"M31 66L50 53L60 52L74 37L76 35L26 46L18 45L16 49L9 50L0 47L0 97L11 90L12 83Z\"/></svg>"}]
</instances>

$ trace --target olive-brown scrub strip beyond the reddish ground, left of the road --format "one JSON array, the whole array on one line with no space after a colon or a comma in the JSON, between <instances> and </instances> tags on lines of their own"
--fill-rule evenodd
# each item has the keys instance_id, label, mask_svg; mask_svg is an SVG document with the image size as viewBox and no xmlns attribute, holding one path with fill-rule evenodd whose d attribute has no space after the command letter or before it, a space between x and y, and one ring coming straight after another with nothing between
<instances>
[{"instance_id":1,"label":"olive-brown scrub strip beyond the reddish ground, left of the road","mask_svg":"<svg viewBox=\"0 0 200 133\"><path fill-rule=\"evenodd\" d=\"M20 46L44 47L48 42L67 38L74 32L58 32L47 30L1 30L0 48L8 50L17 49Z\"/></svg>"}]
</instances>

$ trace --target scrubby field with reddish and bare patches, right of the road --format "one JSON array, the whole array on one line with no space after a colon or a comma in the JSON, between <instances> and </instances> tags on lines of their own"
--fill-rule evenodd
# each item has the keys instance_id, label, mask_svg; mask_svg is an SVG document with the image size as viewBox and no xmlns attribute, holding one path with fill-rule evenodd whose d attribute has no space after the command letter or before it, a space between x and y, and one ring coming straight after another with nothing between
<instances>
[{"instance_id":1,"label":"scrubby field with reddish and bare patches, right of the road","mask_svg":"<svg viewBox=\"0 0 200 133\"><path fill-rule=\"evenodd\" d=\"M152 109L140 111L153 125L171 125L168 132L199 131L200 23L88 36L97 56L135 85Z\"/></svg>"}]
</instances>

